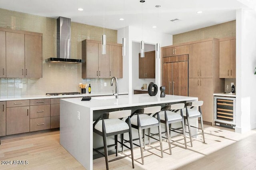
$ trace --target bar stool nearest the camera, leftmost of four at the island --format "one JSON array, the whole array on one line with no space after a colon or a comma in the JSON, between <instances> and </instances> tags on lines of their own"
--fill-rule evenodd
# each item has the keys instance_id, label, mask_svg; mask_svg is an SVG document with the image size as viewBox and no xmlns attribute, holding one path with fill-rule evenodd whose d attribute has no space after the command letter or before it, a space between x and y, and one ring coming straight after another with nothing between
<instances>
[{"instance_id":1,"label":"bar stool nearest the camera, leftmost of four at the island","mask_svg":"<svg viewBox=\"0 0 256 170\"><path fill-rule=\"evenodd\" d=\"M102 154L98 150L101 150L104 148L104 154L105 156L105 161L106 161L106 169L108 170L108 162L112 162L114 160L119 160L121 158L124 158L126 156L122 156L119 158L115 158L112 160L108 160L108 147L115 146L116 147L116 156L118 153L117 149L117 143L120 143L126 148L131 150L131 156L132 156L132 168L134 168L134 156L133 156L133 146L132 146L132 128L131 128L131 122L130 122L130 115L132 111L131 110L123 110L123 111L113 111L109 113L104 113L98 119L93 123L93 132L99 134L100 136L103 136L103 144L104 147L101 148L95 148L93 149L99 154ZM127 123L123 120L120 120L120 118L127 118ZM124 134L126 132L129 132L129 138L130 138L130 147L126 146L123 142L120 142L117 140L117 135L118 134ZM107 137L108 136L115 136L115 144L112 145L107 145ZM122 149L123 150L123 149Z\"/></svg>"}]
</instances>

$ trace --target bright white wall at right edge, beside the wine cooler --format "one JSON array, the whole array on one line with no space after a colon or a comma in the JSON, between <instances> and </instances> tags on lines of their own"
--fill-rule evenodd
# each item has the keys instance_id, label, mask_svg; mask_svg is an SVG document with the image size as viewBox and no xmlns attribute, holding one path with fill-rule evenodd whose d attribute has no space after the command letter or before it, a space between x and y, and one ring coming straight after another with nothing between
<instances>
[{"instance_id":1,"label":"bright white wall at right edge, beside the wine cooler","mask_svg":"<svg viewBox=\"0 0 256 170\"><path fill-rule=\"evenodd\" d=\"M256 128L256 12L236 12L236 132Z\"/></svg>"}]
</instances>

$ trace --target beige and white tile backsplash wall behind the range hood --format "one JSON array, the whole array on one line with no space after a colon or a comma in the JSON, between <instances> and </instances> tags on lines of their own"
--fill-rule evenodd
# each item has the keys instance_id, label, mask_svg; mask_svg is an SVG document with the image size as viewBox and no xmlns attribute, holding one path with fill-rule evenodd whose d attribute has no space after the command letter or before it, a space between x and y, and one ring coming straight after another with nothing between
<instances>
[{"instance_id":1,"label":"beige and white tile backsplash wall behind the range hood","mask_svg":"<svg viewBox=\"0 0 256 170\"><path fill-rule=\"evenodd\" d=\"M92 93L112 93L111 79L82 79L81 64L46 63L56 57L56 19L0 9L0 27L40 32L42 36L42 78L0 78L0 97L24 97L45 93L81 92L79 83L89 83ZM82 58L82 40L101 40L103 28L71 22L71 58ZM105 28L107 42L117 42L117 30ZM23 88L19 88L19 84ZM104 87L104 83L107 84ZM88 87L86 88L88 93Z\"/></svg>"}]
</instances>

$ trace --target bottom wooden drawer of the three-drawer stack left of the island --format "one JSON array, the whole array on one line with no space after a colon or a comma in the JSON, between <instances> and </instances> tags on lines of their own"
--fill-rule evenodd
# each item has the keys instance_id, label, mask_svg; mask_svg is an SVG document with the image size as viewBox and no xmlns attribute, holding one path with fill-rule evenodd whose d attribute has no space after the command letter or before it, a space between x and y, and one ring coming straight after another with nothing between
<instances>
[{"instance_id":1,"label":"bottom wooden drawer of the three-drawer stack left of the island","mask_svg":"<svg viewBox=\"0 0 256 170\"><path fill-rule=\"evenodd\" d=\"M30 119L30 132L50 128L51 117Z\"/></svg>"}]
</instances>

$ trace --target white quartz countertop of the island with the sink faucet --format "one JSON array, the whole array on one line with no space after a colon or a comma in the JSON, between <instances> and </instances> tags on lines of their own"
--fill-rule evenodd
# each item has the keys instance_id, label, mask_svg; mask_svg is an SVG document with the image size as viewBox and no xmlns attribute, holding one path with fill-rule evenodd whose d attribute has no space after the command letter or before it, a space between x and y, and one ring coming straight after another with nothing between
<instances>
[{"instance_id":1,"label":"white quartz countertop of the island with the sink faucet","mask_svg":"<svg viewBox=\"0 0 256 170\"><path fill-rule=\"evenodd\" d=\"M119 95L119 98L110 97L92 97L90 101L81 101L82 98L69 98L61 99L68 101L77 105L88 107L92 110L102 110L102 109L114 109L121 107L134 107L142 105L154 105L161 103L173 103L180 101L194 101L198 100L197 97L187 97L187 96L176 96L176 95L166 95L165 97L160 96L150 96L148 94L137 94L137 95ZM60 103L62 103L60 101Z\"/></svg>"}]
</instances>

